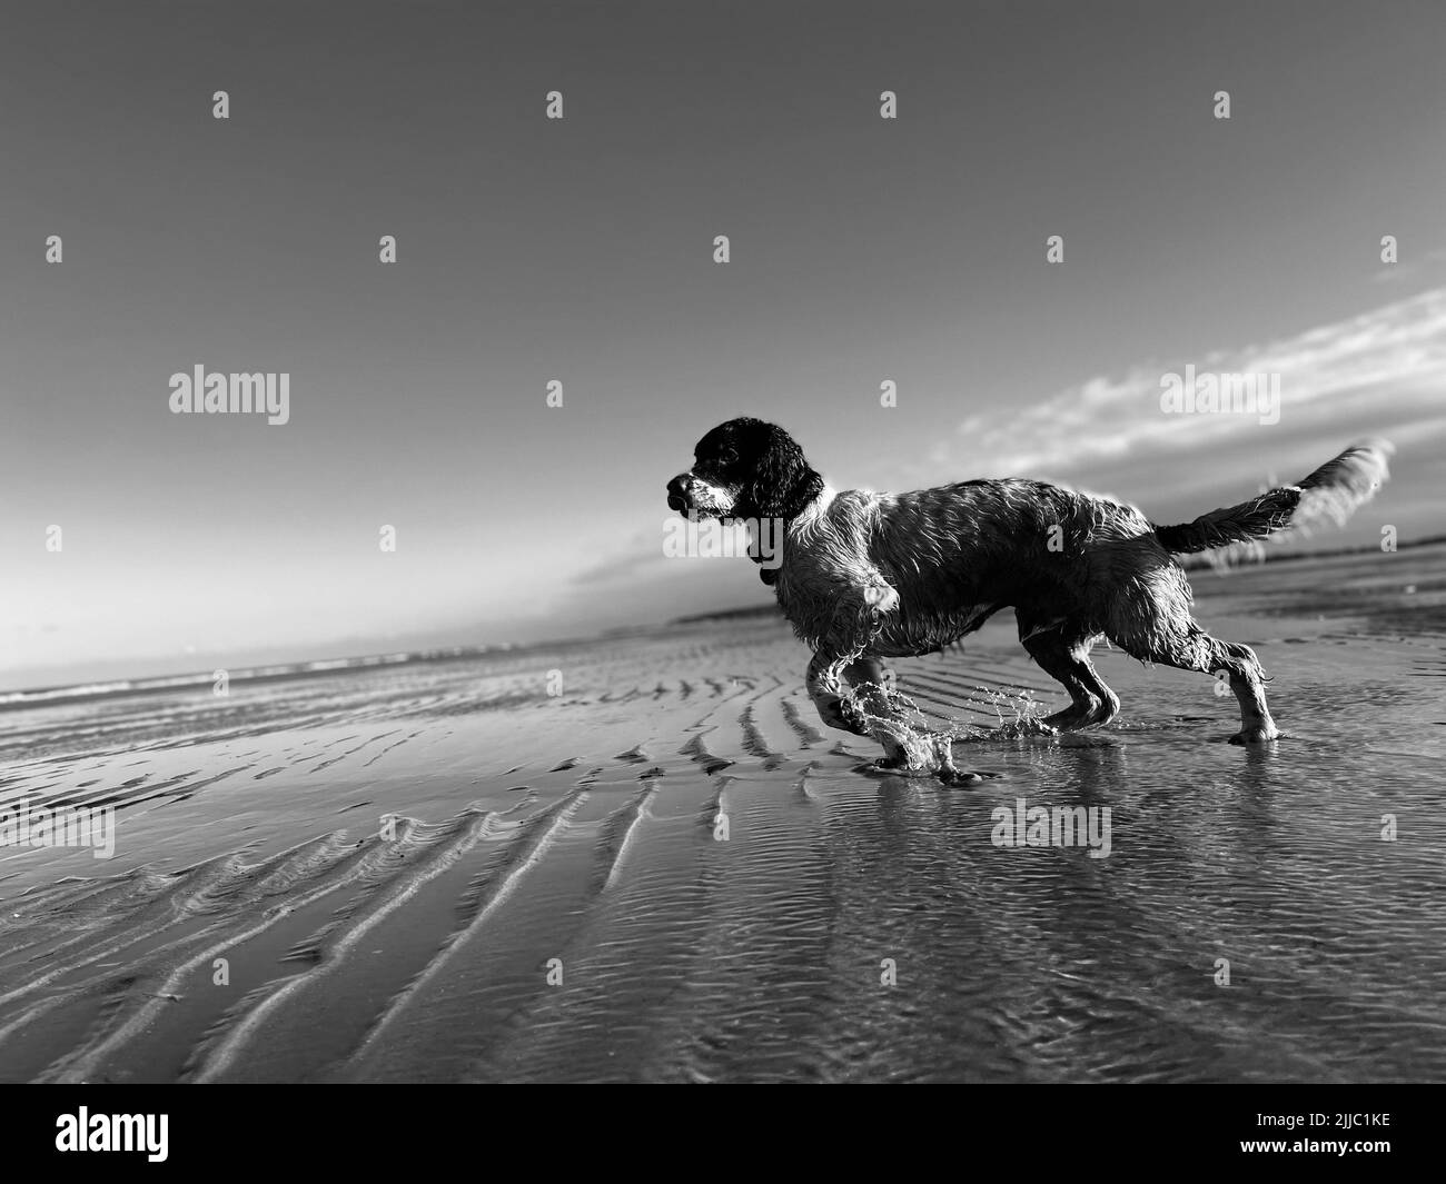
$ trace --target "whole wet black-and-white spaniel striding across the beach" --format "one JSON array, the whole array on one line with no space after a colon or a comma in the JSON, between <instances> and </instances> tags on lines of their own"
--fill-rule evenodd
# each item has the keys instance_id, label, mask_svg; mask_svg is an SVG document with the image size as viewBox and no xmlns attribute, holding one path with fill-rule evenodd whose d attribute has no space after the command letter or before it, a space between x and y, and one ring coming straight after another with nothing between
<instances>
[{"instance_id":1,"label":"whole wet black-and-white spaniel striding across the beach","mask_svg":"<svg viewBox=\"0 0 1446 1184\"><path fill-rule=\"evenodd\" d=\"M855 692L889 679L885 658L938 651L1011 607L1024 648L1070 694L1047 724L1093 727L1119 711L1089 661L1108 638L1144 662L1225 671L1241 707L1232 739L1257 743L1280 734L1261 665L1249 646L1194 623L1174 555L1340 522L1379 489L1390 451L1384 441L1356 444L1296 486L1155 526L1132 506L1043 481L839 493L788 432L740 418L703 437L693 468L668 483L668 505L698 518L782 520L782 562L761 574L814 651L808 694L831 727L865 734ZM870 711L886 701L872 695ZM908 759L882 742L889 760Z\"/></svg>"}]
</instances>

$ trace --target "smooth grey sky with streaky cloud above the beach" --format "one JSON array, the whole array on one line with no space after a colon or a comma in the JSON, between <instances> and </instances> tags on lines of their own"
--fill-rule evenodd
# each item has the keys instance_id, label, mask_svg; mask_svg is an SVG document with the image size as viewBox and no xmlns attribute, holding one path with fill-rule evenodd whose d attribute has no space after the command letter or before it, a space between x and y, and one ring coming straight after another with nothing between
<instances>
[{"instance_id":1,"label":"smooth grey sky with streaky cloud above the beach","mask_svg":"<svg viewBox=\"0 0 1446 1184\"><path fill-rule=\"evenodd\" d=\"M1384 435L1392 484L1312 542L1442 532L1439 4L6 25L0 688L762 603L662 554L667 480L742 413L842 489L1028 476L1161 522ZM172 413L198 364L288 373L289 421ZM1278 422L1164 413L1187 364L1278 374Z\"/></svg>"}]
</instances>

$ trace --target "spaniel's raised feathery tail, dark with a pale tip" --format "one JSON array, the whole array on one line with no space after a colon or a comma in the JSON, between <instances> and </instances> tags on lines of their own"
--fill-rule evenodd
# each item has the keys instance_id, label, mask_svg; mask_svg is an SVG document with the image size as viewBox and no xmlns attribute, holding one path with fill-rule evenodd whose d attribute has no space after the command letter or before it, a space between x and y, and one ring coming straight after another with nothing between
<instances>
[{"instance_id":1,"label":"spaniel's raised feathery tail, dark with a pale tip","mask_svg":"<svg viewBox=\"0 0 1446 1184\"><path fill-rule=\"evenodd\" d=\"M1320 522L1342 525L1385 483L1385 460L1395 448L1384 439L1352 444L1299 486L1281 486L1249 502L1210 510L1194 522L1155 526L1165 551L1186 555L1232 544L1251 544L1285 529L1309 531Z\"/></svg>"}]
</instances>

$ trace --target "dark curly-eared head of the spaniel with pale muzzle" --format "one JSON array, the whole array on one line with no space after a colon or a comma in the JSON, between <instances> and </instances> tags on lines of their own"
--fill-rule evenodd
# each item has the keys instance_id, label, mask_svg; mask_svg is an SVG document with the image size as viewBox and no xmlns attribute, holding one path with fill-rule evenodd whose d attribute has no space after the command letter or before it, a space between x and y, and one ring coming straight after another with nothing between
<instances>
[{"instance_id":1,"label":"dark curly-eared head of the spaniel with pale muzzle","mask_svg":"<svg viewBox=\"0 0 1446 1184\"><path fill-rule=\"evenodd\" d=\"M668 481L668 507L696 518L791 519L823 492L791 435L762 419L719 424Z\"/></svg>"}]
</instances>

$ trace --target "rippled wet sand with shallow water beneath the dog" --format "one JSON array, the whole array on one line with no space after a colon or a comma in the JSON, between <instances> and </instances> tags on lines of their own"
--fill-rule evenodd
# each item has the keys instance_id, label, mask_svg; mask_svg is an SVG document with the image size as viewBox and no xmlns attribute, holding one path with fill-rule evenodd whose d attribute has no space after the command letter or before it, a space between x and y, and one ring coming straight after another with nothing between
<instances>
[{"instance_id":1,"label":"rippled wet sand with shallow water beneath the dog","mask_svg":"<svg viewBox=\"0 0 1446 1184\"><path fill-rule=\"evenodd\" d=\"M1440 1080L1446 549L1194 584L1277 745L1109 651L1115 726L992 737L1063 703L1008 619L898 664L967 788L774 620L3 713L0 805L117 846L0 847L0 1078Z\"/></svg>"}]
</instances>

